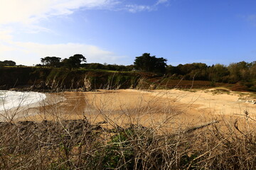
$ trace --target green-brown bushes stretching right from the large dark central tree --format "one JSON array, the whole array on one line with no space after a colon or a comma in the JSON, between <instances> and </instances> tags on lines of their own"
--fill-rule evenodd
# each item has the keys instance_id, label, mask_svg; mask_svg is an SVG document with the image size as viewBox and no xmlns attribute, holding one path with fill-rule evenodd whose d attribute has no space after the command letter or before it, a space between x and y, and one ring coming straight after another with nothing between
<instances>
[{"instance_id":1,"label":"green-brown bushes stretching right from the large dark central tree","mask_svg":"<svg viewBox=\"0 0 256 170\"><path fill-rule=\"evenodd\" d=\"M166 74L174 79L195 79L211 81L214 86L216 82L237 84L233 90L248 91L256 90L256 62L231 63L228 66L215 64L207 66L203 63L179 64L168 66Z\"/></svg>"}]
</instances>

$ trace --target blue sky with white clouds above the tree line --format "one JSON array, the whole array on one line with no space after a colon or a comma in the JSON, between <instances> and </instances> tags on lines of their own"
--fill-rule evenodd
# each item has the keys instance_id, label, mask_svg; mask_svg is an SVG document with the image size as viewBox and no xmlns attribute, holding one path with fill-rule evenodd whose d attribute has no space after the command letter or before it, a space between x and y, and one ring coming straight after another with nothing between
<instances>
[{"instance_id":1,"label":"blue sky with white clouds above the tree line","mask_svg":"<svg viewBox=\"0 0 256 170\"><path fill-rule=\"evenodd\" d=\"M256 60L255 0L0 0L0 61L39 64L82 54L133 64Z\"/></svg>"}]
</instances>

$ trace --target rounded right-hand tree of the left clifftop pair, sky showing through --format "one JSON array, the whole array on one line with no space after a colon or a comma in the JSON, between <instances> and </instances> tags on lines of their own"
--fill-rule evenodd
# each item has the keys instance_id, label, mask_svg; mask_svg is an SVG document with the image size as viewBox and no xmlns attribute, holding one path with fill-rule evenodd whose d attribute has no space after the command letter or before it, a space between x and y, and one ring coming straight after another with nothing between
<instances>
[{"instance_id":1,"label":"rounded right-hand tree of the left clifftop pair, sky showing through","mask_svg":"<svg viewBox=\"0 0 256 170\"><path fill-rule=\"evenodd\" d=\"M73 55L68 59L63 60L64 66L68 67L69 69L81 67L82 62L86 63L86 58L80 54Z\"/></svg>"}]
</instances>

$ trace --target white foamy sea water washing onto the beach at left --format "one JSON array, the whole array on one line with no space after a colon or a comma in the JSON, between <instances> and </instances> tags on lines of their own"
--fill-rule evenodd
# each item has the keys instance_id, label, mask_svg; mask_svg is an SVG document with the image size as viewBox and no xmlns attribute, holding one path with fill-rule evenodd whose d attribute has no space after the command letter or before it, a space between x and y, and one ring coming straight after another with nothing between
<instances>
[{"instance_id":1,"label":"white foamy sea water washing onto the beach at left","mask_svg":"<svg viewBox=\"0 0 256 170\"><path fill-rule=\"evenodd\" d=\"M38 92L0 91L0 111L29 106L45 98L45 94Z\"/></svg>"}]
</instances>

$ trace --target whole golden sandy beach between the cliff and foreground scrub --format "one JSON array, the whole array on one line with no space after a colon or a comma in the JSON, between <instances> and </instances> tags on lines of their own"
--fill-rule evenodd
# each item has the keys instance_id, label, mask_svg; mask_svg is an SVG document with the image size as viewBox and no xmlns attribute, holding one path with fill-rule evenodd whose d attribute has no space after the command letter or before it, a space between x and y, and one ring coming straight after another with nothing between
<instances>
[{"instance_id":1,"label":"whole golden sandy beach between the cliff and foreground scrub","mask_svg":"<svg viewBox=\"0 0 256 170\"><path fill-rule=\"evenodd\" d=\"M36 108L36 114L18 120L87 118L106 126L142 124L152 128L186 128L211 120L255 118L256 105L245 103L250 93L227 89L141 91L133 89L51 94L65 101ZM244 100L240 100L243 98Z\"/></svg>"}]
</instances>

